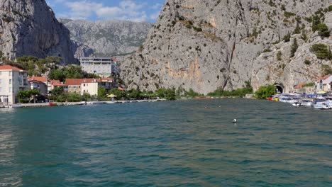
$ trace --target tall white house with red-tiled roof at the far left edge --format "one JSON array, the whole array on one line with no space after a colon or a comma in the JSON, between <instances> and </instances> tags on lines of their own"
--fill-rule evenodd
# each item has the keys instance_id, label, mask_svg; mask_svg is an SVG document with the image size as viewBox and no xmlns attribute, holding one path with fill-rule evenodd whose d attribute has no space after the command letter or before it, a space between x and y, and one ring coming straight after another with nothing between
<instances>
[{"instance_id":1,"label":"tall white house with red-tiled roof at the far left edge","mask_svg":"<svg viewBox=\"0 0 332 187\"><path fill-rule=\"evenodd\" d=\"M0 103L18 103L18 91L28 89L28 72L10 65L0 66Z\"/></svg>"}]
</instances>

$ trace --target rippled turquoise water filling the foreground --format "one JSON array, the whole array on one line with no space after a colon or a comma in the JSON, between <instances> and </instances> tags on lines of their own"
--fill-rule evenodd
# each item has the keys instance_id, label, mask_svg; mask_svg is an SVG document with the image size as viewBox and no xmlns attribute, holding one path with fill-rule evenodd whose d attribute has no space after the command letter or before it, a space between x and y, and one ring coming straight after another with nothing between
<instances>
[{"instance_id":1,"label":"rippled turquoise water filling the foreground","mask_svg":"<svg viewBox=\"0 0 332 187\"><path fill-rule=\"evenodd\" d=\"M0 116L0 186L332 186L332 111L220 99Z\"/></svg>"}]
</instances>

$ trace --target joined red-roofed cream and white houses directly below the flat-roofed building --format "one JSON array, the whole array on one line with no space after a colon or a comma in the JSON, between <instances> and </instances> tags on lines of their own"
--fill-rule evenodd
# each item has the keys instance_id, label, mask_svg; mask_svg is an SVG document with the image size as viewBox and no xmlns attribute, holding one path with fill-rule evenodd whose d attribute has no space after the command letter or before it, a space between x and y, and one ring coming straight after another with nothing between
<instances>
[{"instance_id":1,"label":"joined red-roofed cream and white houses directly below the flat-roofed building","mask_svg":"<svg viewBox=\"0 0 332 187\"><path fill-rule=\"evenodd\" d=\"M98 95L98 88L103 87L106 91L116 87L113 78L101 79L66 79L65 85L69 93Z\"/></svg>"}]
</instances>

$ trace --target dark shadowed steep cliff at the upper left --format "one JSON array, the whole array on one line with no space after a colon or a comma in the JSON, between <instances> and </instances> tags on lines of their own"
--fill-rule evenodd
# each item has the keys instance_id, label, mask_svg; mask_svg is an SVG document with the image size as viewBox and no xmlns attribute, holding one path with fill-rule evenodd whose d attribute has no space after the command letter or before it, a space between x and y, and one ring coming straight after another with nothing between
<instances>
[{"instance_id":1,"label":"dark shadowed steep cliff at the upper left","mask_svg":"<svg viewBox=\"0 0 332 187\"><path fill-rule=\"evenodd\" d=\"M53 55L76 62L69 30L44 0L0 0L0 51L10 60Z\"/></svg>"}]
</instances>

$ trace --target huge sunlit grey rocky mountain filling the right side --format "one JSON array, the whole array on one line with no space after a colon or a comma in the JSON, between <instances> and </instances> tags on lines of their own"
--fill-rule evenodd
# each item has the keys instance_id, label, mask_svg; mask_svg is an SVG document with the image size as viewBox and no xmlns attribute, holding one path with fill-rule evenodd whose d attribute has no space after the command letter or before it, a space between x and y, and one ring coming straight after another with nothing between
<instances>
[{"instance_id":1,"label":"huge sunlit grey rocky mountain filling the right side","mask_svg":"<svg viewBox=\"0 0 332 187\"><path fill-rule=\"evenodd\" d=\"M207 94L251 81L254 89L280 84L290 91L294 84L320 77L322 64L331 65L310 50L320 42L331 46L330 38L311 31L311 16L331 4L332 0L167 0L143 48L121 64L121 77L129 89L141 90L175 87ZM284 42L295 28L307 38L294 34ZM299 47L292 57L294 38Z\"/></svg>"}]
</instances>

